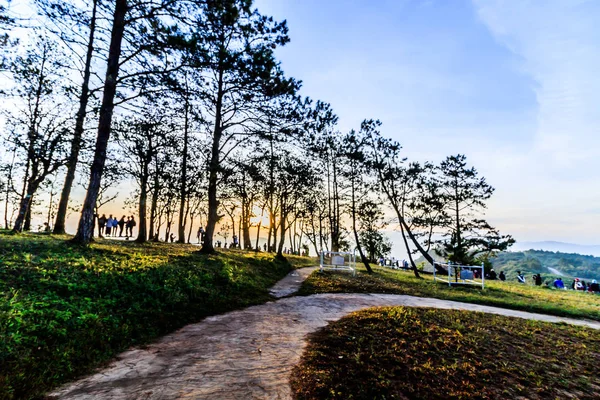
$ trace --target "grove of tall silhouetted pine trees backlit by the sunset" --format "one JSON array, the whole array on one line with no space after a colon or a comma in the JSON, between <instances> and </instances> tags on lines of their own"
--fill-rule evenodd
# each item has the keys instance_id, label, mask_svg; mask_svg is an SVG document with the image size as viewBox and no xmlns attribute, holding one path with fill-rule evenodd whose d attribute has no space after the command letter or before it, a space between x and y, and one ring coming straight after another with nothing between
<instances>
[{"instance_id":1,"label":"grove of tall silhouetted pine trees backlit by the sunset","mask_svg":"<svg viewBox=\"0 0 600 400\"><path fill-rule=\"evenodd\" d=\"M378 121L343 134L329 104L301 97L275 57L289 41L285 21L251 0L35 6L25 49L8 57L0 48L12 82L3 88L6 228L30 229L44 199L55 233L76 207L73 242L89 243L114 197L107 189L129 182L139 242L189 242L202 225L210 253L220 227L245 249L266 235L279 255L356 249L367 270L391 249L388 224L429 261L432 250L470 262L511 244L480 219L493 189L464 156L409 163Z\"/></svg>"}]
</instances>

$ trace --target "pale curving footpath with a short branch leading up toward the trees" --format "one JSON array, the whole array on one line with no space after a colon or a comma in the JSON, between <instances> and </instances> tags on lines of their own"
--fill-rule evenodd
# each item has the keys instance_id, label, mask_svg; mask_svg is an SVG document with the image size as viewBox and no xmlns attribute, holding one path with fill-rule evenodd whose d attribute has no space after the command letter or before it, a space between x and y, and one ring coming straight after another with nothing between
<instances>
[{"instance_id":1,"label":"pale curving footpath with a short branch leading up toward the trees","mask_svg":"<svg viewBox=\"0 0 600 400\"><path fill-rule=\"evenodd\" d=\"M271 289L296 291L315 268L294 271ZM385 294L289 297L188 325L145 348L120 354L95 375L51 397L65 399L289 399L289 373L308 333L375 306L481 311L600 329L600 323L447 300Z\"/></svg>"}]
</instances>

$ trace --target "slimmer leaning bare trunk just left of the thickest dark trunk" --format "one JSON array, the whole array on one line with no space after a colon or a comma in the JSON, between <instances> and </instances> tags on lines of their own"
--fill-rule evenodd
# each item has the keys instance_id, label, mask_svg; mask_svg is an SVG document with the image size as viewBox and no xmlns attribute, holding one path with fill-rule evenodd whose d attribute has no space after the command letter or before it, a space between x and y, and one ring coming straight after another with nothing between
<instances>
[{"instance_id":1,"label":"slimmer leaning bare trunk just left of the thickest dark trunk","mask_svg":"<svg viewBox=\"0 0 600 400\"><path fill-rule=\"evenodd\" d=\"M75 118L75 130L73 131L73 139L71 140L71 152L67 161L67 174L65 175L65 183L60 194L58 202L58 210L56 211L56 221L54 222L54 233L65 233L65 222L67 220L67 208L69 206L69 197L71 196L71 188L75 180L75 171L79 160L79 151L81 150L81 142L84 131L84 122L87 110L87 104L90 96L89 83L91 75L92 57L94 54L94 34L96 31L96 8L98 0L93 0L92 19L90 20L90 35L88 39L87 53L85 56L85 67L83 70L83 83L81 85L81 94L79 96L79 109ZM93 230L92 230L93 235Z\"/></svg>"}]
</instances>

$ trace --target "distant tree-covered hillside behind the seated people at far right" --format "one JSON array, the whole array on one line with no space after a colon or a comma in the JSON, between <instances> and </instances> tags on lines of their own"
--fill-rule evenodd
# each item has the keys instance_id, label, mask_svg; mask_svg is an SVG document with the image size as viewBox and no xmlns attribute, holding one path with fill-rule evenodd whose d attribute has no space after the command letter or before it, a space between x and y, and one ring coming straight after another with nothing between
<instances>
[{"instance_id":1,"label":"distant tree-covered hillside behind the seated people at far right","mask_svg":"<svg viewBox=\"0 0 600 400\"><path fill-rule=\"evenodd\" d=\"M544 250L501 252L492 260L494 269L509 276L517 271L525 274L542 273L558 276L560 273L579 278L596 279L600 276L600 257Z\"/></svg>"}]
</instances>

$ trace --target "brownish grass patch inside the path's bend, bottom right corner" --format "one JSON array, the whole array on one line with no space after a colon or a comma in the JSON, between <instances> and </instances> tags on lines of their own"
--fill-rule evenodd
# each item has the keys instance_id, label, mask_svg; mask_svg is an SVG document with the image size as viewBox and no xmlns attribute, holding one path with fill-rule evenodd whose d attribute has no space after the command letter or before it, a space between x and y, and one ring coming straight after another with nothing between
<instances>
[{"instance_id":1,"label":"brownish grass patch inside the path's bend, bottom right corner","mask_svg":"<svg viewBox=\"0 0 600 400\"><path fill-rule=\"evenodd\" d=\"M600 332L456 310L386 307L312 334L297 399L598 398Z\"/></svg>"}]
</instances>

